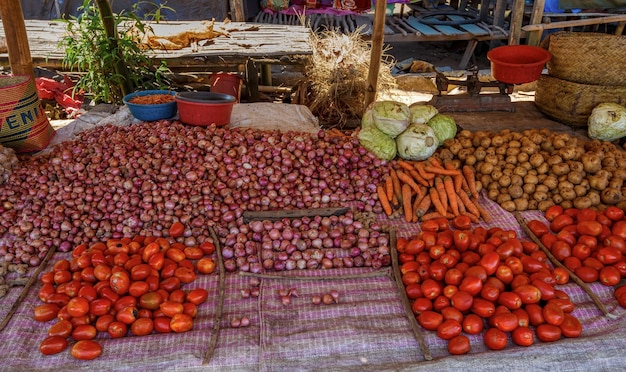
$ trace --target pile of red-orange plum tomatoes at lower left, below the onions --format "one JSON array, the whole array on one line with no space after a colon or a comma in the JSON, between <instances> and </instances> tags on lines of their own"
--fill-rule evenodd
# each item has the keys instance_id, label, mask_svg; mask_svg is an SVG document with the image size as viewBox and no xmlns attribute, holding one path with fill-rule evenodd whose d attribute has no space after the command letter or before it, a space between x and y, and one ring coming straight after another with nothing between
<instances>
[{"instance_id":1,"label":"pile of red-orange plum tomatoes at lower left, below the onions","mask_svg":"<svg viewBox=\"0 0 626 372\"><path fill-rule=\"evenodd\" d=\"M70 260L54 263L41 275L34 319L55 321L40 344L44 355L59 353L76 341L71 354L94 359L102 353L98 332L111 338L153 332L186 332L193 328L197 306L208 292L181 287L197 273L215 270L215 246L171 243L166 238L135 237L81 244Z\"/></svg>"}]
</instances>

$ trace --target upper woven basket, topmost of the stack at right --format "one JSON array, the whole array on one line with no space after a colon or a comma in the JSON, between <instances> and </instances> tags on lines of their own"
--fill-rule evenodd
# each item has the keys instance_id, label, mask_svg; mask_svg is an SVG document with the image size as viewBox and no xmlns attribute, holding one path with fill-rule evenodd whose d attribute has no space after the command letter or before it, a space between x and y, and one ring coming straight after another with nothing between
<instances>
[{"instance_id":1,"label":"upper woven basket, topmost of the stack at right","mask_svg":"<svg viewBox=\"0 0 626 372\"><path fill-rule=\"evenodd\" d=\"M557 32L548 39L551 76L580 84L626 86L626 35Z\"/></svg>"}]
</instances>

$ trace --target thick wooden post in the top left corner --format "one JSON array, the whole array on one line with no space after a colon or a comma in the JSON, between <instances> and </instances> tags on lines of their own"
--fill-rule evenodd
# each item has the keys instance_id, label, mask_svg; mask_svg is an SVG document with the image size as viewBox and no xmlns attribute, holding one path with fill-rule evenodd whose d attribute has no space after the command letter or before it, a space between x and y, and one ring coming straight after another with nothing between
<instances>
[{"instance_id":1,"label":"thick wooden post in the top left corner","mask_svg":"<svg viewBox=\"0 0 626 372\"><path fill-rule=\"evenodd\" d=\"M6 36L9 64L13 75L29 75L35 81L33 59L20 0L0 0L0 17Z\"/></svg>"}]
</instances>

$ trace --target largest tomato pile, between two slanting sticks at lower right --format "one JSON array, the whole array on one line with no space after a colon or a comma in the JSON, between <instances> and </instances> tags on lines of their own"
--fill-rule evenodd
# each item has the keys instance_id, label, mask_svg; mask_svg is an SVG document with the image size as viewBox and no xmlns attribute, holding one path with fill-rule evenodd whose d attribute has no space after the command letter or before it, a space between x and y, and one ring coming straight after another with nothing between
<instances>
[{"instance_id":1,"label":"largest tomato pile, between two slanting sticks at lower right","mask_svg":"<svg viewBox=\"0 0 626 372\"><path fill-rule=\"evenodd\" d=\"M567 270L552 268L537 244L501 228L470 230L466 216L452 226L431 221L417 236L398 239L398 260L418 323L447 340L451 354L470 351L467 335L482 334L492 350L509 338L530 346L535 337L580 336L574 303L555 288L569 281Z\"/></svg>"}]
</instances>

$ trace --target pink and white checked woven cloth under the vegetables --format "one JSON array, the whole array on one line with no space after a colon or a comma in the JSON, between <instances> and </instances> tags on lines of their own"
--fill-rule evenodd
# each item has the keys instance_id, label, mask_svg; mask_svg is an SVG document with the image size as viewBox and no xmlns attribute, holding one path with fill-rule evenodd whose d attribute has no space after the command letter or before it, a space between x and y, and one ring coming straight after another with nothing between
<instances>
[{"instance_id":1,"label":"pink and white checked woven cloth under the vegetables","mask_svg":"<svg viewBox=\"0 0 626 372\"><path fill-rule=\"evenodd\" d=\"M523 236L512 214L486 200L481 203L491 212L493 222L486 227L514 229ZM525 212L527 219L542 218L540 212ZM398 236L411 236L418 225L400 218L386 221ZM57 253L53 261L68 254ZM298 276L345 275L371 269L340 269L296 272ZM388 268L380 276L359 279L262 279L260 296L243 299L241 290L249 278L226 276L224 314L217 347L207 366L202 365L217 309L218 276L199 276L188 288L209 290L209 300L199 306L192 331L182 334L154 334L143 337L110 339L99 334L103 354L92 361L78 361L69 350L43 356L39 343L46 337L48 323L32 320L33 308L40 304L39 285L33 286L11 323L0 333L0 370L623 370L626 368L626 310L617 305L613 290L600 284L591 287L615 314L609 320L575 284L562 286L574 300L574 312L584 331L578 339L554 343L536 342L524 348L509 341L507 349L489 351L479 336L472 336L470 354L452 357L446 342L435 333L423 331L432 361L425 361L411 331L395 282ZM281 303L278 290L296 288L288 306ZM340 301L333 305L313 305L311 296L337 290ZM19 289L13 289L0 302L0 317L8 312ZM247 328L231 328L233 317L248 316Z\"/></svg>"}]
</instances>

